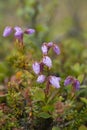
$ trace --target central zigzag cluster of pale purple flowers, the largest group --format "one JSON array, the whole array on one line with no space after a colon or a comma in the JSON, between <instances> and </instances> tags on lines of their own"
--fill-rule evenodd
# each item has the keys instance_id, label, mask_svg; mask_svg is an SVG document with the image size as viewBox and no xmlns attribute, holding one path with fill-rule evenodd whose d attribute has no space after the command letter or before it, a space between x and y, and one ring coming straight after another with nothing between
<instances>
[{"instance_id":1,"label":"central zigzag cluster of pale purple flowers, the largest group","mask_svg":"<svg viewBox=\"0 0 87 130\"><path fill-rule=\"evenodd\" d=\"M55 88L60 88L60 77L56 76L45 76L42 74L44 66L47 66L49 69L52 67L52 60L48 56L48 51L50 49L53 49L53 51L59 55L60 54L60 49L59 47L54 44L53 42L48 42L48 43L43 43L41 50L43 54L43 58L41 62L34 62L32 65L33 71L36 75L38 75L37 82L38 83L43 83L44 81L47 81L47 85L53 85Z\"/></svg>"}]
</instances>

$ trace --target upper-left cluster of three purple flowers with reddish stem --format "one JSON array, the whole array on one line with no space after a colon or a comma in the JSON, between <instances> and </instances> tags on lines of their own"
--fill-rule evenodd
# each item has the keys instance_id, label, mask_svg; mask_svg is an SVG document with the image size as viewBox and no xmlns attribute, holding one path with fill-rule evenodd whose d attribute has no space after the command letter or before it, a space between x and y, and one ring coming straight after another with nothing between
<instances>
[{"instance_id":1,"label":"upper-left cluster of three purple flowers with reddish stem","mask_svg":"<svg viewBox=\"0 0 87 130\"><path fill-rule=\"evenodd\" d=\"M15 26L14 28L7 26L4 29L3 36L7 37L13 32L14 32L14 37L18 40L18 42L23 43L23 35L24 34L28 34L28 35L33 34L35 32L35 30L34 29L26 29L23 31L19 26Z\"/></svg>"}]
</instances>

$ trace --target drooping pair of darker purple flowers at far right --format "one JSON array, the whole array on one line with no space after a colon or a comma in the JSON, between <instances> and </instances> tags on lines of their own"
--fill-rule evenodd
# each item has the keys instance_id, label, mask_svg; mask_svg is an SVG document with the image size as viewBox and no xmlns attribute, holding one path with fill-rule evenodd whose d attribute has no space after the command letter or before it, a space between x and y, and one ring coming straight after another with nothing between
<instances>
[{"instance_id":1,"label":"drooping pair of darker purple flowers at far right","mask_svg":"<svg viewBox=\"0 0 87 130\"><path fill-rule=\"evenodd\" d=\"M80 82L79 80L77 80L76 78L72 77L72 76L68 76L65 81L64 81L64 85L68 86L68 85L73 85L73 87L78 90L80 88Z\"/></svg>"}]
</instances>

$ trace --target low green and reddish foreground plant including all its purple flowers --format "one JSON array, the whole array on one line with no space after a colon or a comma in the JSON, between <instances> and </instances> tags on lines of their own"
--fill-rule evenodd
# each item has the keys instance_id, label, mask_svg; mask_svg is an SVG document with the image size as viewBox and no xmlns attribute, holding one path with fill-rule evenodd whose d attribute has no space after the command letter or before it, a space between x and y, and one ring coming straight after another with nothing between
<instances>
[{"instance_id":1,"label":"low green and reddish foreground plant including all its purple flowers","mask_svg":"<svg viewBox=\"0 0 87 130\"><path fill-rule=\"evenodd\" d=\"M42 44L42 56L35 61L37 52L28 52L24 43L24 35L35 33L34 29L8 26L3 36L11 33L16 47L8 61L14 75L8 82L5 101L0 104L1 129L82 130L87 123L87 99L81 96L87 89L82 86L83 75L60 77L59 68L53 72L52 61L61 55L53 42Z\"/></svg>"}]
</instances>

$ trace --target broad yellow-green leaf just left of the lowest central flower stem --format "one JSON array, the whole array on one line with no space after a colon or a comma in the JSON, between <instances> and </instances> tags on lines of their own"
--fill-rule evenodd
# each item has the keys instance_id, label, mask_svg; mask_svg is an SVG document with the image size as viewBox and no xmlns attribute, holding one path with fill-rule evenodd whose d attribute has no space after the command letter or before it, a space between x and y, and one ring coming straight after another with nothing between
<instances>
[{"instance_id":1,"label":"broad yellow-green leaf just left of the lowest central flower stem","mask_svg":"<svg viewBox=\"0 0 87 130\"><path fill-rule=\"evenodd\" d=\"M43 89L38 88L35 93L34 93L34 100L36 101L44 101L45 99L45 94Z\"/></svg>"}]
</instances>

